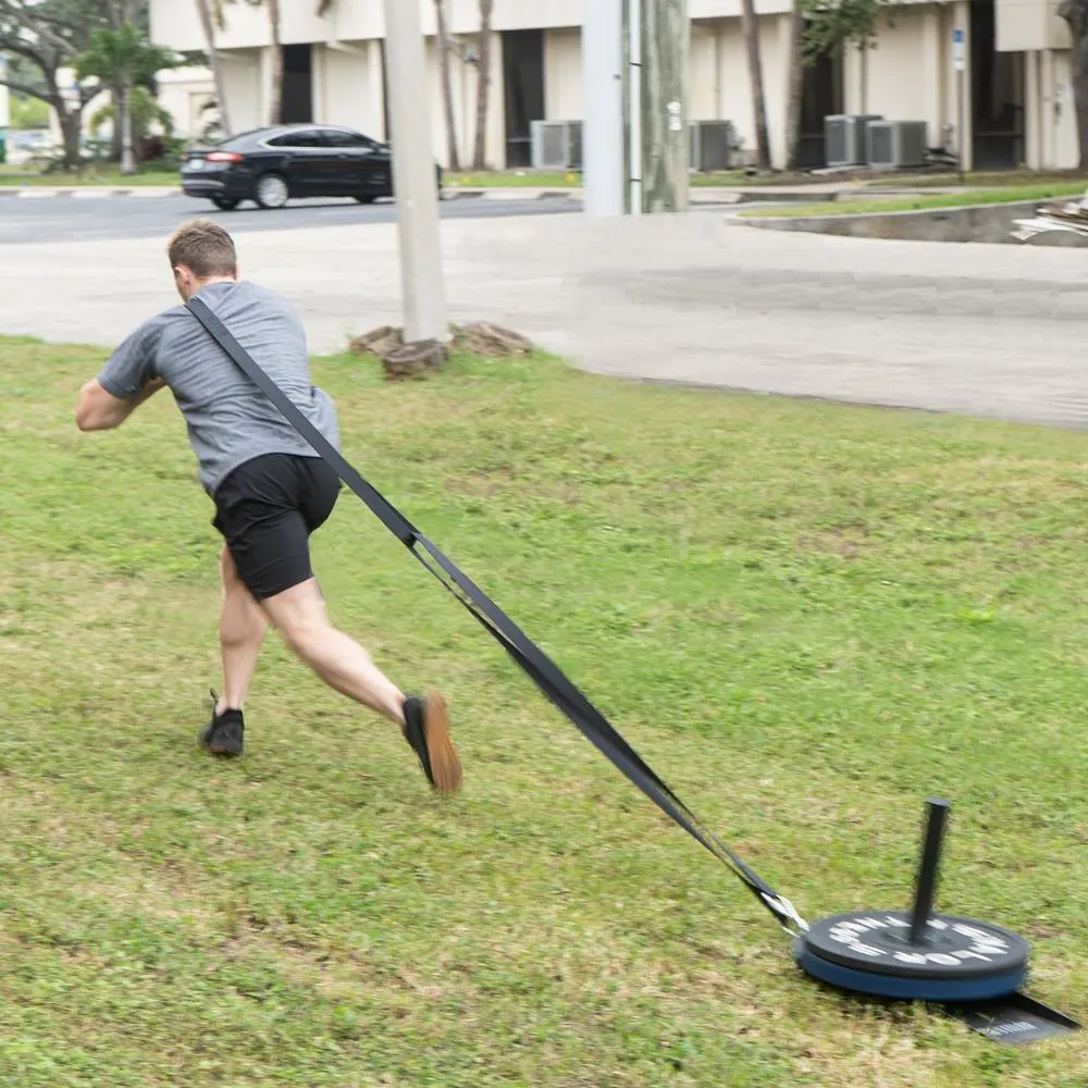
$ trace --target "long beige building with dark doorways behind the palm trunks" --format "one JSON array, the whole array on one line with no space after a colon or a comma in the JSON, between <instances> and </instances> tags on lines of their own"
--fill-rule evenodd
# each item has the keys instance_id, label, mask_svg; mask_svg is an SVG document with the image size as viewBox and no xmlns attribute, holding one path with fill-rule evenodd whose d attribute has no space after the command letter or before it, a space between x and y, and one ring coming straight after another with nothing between
<instances>
[{"instance_id":1,"label":"long beige building with dark doorways behind the palm trunks","mask_svg":"<svg viewBox=\"0 0 1088 1088\"><path fill-rule=\"evenodd\" d=\"M593 0L495 0L492 109L487 157L496 166L530 163L530 126L582 118L581 21ZM432 114L435 153L447 158L435 50L433 0L419 0L430 79L420 101ZM319 18L317 0L281 0L285 120L350 125L385 138L383 0L334 0ZM776 165L784 157L791 0L756 0L765 95ZM1074 166L1078 146L1070 78L1070 38L1056 0L907 2L883 11L876 48L825 58L806 71L803 154L824 162L823 118L875 113L924 122L928 145L960 146L954 32L963 38L965 161L968 166ZM475 131L478 0L446 0L455 112L462 160ZM754 145L752 97L741 35L740 0L689 0L689 118L728 120L740 143ZM227 8L217 41L235 131L268 120L270 32L248 4ZM205 47L191 0L151 0L156 41L182 50ZM199 128L212 95L208 73L189 70L163 81L163 103L178 131Z\"/></svg>"}]
</instances>

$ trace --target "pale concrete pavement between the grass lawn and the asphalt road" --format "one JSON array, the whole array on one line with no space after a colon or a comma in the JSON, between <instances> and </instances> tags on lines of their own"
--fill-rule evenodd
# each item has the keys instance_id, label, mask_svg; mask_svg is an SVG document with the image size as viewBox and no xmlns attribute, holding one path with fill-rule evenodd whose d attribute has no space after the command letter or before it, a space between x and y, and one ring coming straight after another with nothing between
<instances>
[{"instance_id":1,"label":"pale concrete pavement between the grass lawn and the asphalt road","mask_svg":"<svg viewBox=\"0 0 1088 1088\"><path fill-rule=\"evenodd\" d=\"M443 224L455 320L607 374L1088 426L1088 254L774 234L719 212ZM392 225L239 236L319 351L399 320ZM109 345L172 302L159 240L8 246L0 330Z\"/></svg>"}]
</instances>

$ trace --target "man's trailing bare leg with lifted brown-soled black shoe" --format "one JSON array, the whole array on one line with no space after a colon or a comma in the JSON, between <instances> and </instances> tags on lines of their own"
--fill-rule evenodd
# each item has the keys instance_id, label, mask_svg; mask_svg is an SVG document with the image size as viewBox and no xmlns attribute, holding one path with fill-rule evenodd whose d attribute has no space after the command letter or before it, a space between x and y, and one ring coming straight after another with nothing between
<instances>
[{"instance_id":1,"label":"man's trailing bare leg with lifted brown-soled black shoe","mask_svg":"<svg viewBox=\"0 0 1088 1088\"><path fill-rule=\"evenodd\" d=\"M449 740L445 703L431 695L406 705L404 692L374 665L370 654L332 626L314 579L262 601L261 608L287 645L330 688L400 727L435 787L449 792L460 786L461 767Z\"/></svg>"}]
</instances>

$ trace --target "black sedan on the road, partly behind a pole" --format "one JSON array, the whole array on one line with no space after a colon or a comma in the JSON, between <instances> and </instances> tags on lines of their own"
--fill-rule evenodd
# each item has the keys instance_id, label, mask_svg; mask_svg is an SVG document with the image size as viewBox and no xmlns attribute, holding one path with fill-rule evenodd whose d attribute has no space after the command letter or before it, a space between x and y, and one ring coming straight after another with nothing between
<instances>
[{"instance_id":1,"label":"black sedan on the road, partly behind a pole","mask_svg":"<svg viewBox=\"0 0 1088 1088\"><path fill-rule=\"evenodd\" d=\"M442 189L442 168L437 169ZM294 197L393 196L393 151L339 125L275 125L187 151L182 191L231 211L243 200L282 208Z\"/></svg>"}]
</instances>

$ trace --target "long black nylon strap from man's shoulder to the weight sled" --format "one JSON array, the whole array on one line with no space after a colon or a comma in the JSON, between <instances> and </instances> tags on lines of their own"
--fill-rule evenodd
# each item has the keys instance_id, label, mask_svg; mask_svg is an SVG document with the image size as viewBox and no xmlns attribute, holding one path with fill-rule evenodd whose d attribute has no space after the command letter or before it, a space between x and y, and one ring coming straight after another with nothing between
<instances>
[{"instance_id":1,"label":"long black nylon strap from man's shoulder to the weight sled","mask_svg":"<svg viewBox=\"0 0 1088 1088\"><path fill-rule=\"evenodd\" d=\"M302 415L257 364L231 331L199 298L189 310L235 363L259 386L339 478L367 504L416 558L473 617L561 710L581 733L635 787L693 839L729 866L759 902L784 926L804 922L780 897L680 801L653 768L631 747L607 718L582 694L559 667L461 569L423 536L396 507L372 487Z\"/></svg>"}]
</instances>

